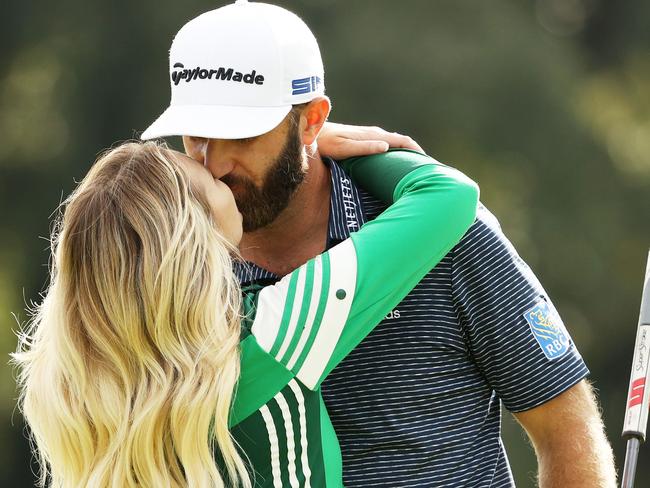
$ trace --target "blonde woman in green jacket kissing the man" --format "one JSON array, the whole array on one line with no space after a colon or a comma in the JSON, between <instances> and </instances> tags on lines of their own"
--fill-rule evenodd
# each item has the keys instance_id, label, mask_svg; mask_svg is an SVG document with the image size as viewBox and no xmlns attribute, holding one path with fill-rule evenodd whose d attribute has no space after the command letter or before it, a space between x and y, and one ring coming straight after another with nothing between
<instances>
[{"instance_id":1,"label":"blonde woman in green jacket kissing the man","mask_svg":"<svg viewBox=\"0 0 650 488\"><path fill-rule=\"evenodd\" d=\"M392 205L242 300L228 187L154 143L100 158L65 203L50 287L14 355L41 484L342 486L320 383L476 211L462 174L402 159L345 162Z\"/></svg>"}]
</instances>

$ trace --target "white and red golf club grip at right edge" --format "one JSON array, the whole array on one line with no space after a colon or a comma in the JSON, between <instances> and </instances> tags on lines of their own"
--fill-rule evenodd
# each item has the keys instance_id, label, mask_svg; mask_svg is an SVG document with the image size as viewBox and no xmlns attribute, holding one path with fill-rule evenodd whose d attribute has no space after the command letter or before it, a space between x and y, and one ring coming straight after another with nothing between
<instances>
[{"instance_id":1,"label":"white and red golf club grip at right edge","mask_svg":"<svg viewBox=\"0 0 650 488\"><path fill-rule=\"evenodd\" d=\"M646 265L639 328L634 344L634 359L630 374L630 388L627 394L623 437L637 437L645 441L650 406L650 388L647 388L648 365L650 363L650 252Z\"/></svg>"}]
</instances>

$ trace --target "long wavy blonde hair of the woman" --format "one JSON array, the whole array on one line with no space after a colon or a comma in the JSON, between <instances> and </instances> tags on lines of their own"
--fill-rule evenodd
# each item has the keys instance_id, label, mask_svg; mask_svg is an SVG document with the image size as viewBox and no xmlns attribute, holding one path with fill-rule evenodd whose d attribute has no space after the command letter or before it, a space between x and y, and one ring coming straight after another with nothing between
<instances>
[{"instance_id":1,"label":"long wavy blonde hair of the woman","mask_svg":"<svg viewBox=\"0 0 650 488\"><path fill-rule=\"evenodd\" d=\"M181 164L123 144L63 204L47 293L12 355L39 486L251 486L228 430L233 249Z\"/></svg>"}]
</instances>

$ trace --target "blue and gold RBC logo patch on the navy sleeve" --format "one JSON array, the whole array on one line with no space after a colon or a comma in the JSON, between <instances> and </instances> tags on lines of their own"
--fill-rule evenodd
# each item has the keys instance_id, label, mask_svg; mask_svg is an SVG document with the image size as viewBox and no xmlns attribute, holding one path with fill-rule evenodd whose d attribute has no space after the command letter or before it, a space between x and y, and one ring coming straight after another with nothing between
<instances>
[{"instance_id":1,"label":"blue and gold RBC logo patch on the navy sleeve","mask_svg":"<svg viewBox=\"0 0 650 488\"><path fill-rule=\"evenodd\" d=\"M524 313L524 318L547 359L564 356L571 348L571 337L562 319L545 301Z\"/></svg>"}]
</instances>

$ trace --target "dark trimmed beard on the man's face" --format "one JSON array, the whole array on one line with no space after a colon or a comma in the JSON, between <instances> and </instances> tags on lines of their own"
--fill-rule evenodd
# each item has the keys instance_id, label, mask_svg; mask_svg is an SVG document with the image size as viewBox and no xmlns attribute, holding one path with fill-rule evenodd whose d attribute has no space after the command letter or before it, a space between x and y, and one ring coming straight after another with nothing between
<instances>
[{"instance_id":1,"label":"dark trimmed beard on the man's face","mask_svg":"<svg viewBox=\"0 0 650 488\"><path fill-rule=\"evenodd\" d=\"M266 173L261 187L239 176L226 175L221 178L229 187L239 187L233 193L243 217L244 232L269 225L287 208L291 196L305 179L302 162L298 125L291 123L282 152Z\"/></svg>"}]
</instances>

